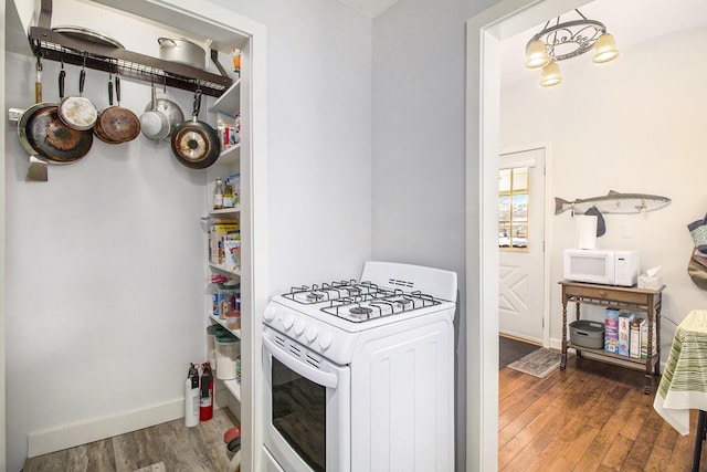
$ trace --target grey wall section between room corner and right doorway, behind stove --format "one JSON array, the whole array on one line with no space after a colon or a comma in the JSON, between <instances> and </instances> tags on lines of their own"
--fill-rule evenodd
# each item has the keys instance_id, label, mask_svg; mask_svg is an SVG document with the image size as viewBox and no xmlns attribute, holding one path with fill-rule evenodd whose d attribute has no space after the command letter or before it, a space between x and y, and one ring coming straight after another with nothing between
<instances>
[{"instance_id":1,"label":"grey wall section between room corner and right doorway, behind stove","mask_svg":"<svg viewBox=\"0 0 707 472\"><path fill-rule=\"evenodd\" d=\"M460 471L466 468L464 228L473 218L465 214L465 22L492 3L400 0L373 21L373 258L458 275Z\"/></svg>"}]
</instances>

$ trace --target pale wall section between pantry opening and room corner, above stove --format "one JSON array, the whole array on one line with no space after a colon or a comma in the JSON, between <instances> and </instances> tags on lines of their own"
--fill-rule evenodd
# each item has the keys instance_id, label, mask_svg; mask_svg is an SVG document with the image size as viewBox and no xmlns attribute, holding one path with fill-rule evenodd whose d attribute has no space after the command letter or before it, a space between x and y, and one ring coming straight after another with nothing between
<instances>
[{"instance_id":1,"label":"pale wall section between pantry opening and room corner, above stove","mask_svg":"<svg viewBox=\"0 0 707 472\"><path fill-rule=\"evenodd\" d=\"M333 0L217 0L267 25L270 281L360 276L371 247L371 20Z\"/></svg>"}]
</instances>

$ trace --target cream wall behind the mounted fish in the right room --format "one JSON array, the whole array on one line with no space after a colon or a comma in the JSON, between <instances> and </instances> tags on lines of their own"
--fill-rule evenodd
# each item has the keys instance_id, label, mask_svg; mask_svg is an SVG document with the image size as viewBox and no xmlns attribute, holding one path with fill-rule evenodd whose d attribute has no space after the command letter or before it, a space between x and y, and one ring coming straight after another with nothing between
<instances>
[{"instance_id":1,"label":"cream wall behind the mounted fish in the right room","mask_svg":"<svg viewBox=\"0 0 707 472\"><path fill-rule=\"evenodd\" d=\"M693 48L685 46L686 44ZM694 49L707 44L707 29L674 33L621 48L621 56L593 66L589 54L560 63L563 82L541 90L538 71L502 91L502 148L551 143L552 195L567 200L620 192L672 199L655 212L604 214L602 248L637 249L642 270L662 265L662 360L675 325L707 306L707 292L687 276L693 248L687 223L707 212L703 179L707 134L707 67ZM550 336L561 339L562 250L571 248L574 220L551 218ZM589 311L588 311L589 312ZM601 311L591 316L601 318Z\"/></svg>"}]
</instances>

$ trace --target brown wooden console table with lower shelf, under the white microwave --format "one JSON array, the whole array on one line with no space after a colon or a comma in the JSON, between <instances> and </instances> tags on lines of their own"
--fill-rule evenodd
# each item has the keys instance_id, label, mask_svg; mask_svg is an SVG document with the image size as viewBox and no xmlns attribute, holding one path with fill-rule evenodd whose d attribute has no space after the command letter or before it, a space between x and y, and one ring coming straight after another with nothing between
<instances>
[{"instance_id":1,"label":"brown wooden console table with lower shelf, under the white microwave","mask_svg":"<svg viewBox=\"0 0 707 472\"><path fill-rule=\"evenodd\" d=\"M661 360L661 303L663 285L659 290L643 290L636 287L620 287L613 285L598 285L581 282L560 281L562 286L562 360L560 369L567 367L567 348L571 347L577 352L577 357L582 357L582 350L603 357L606 361L623 360L625 363L640 364L645 366L645 388L646 395L651 394L653 375L659 375ZM630 312L646 313L648 324L648 355L645 359L620 356L602 349L592 349L572 344L568 338L567 303L574 302L576 317L580 318L580 304L603 306L605 308L625 310ZM653 352L653 329L655 329L656 349Z\"/></svg>"}]
</instances>

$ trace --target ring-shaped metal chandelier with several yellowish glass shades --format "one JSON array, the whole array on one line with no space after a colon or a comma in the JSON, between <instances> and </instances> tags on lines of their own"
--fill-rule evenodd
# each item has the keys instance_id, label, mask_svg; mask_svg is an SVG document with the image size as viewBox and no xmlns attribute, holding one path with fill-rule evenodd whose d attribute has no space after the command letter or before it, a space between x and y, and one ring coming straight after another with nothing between
<instances>
[{"instance_id":1,"label":"ring-shaped metal chandelier with several yellowish glass shades","mask_svg":"<svg viewBox=\"0 0 707 472\"><path fill-rule=\"evenodd\" d=\"M534 35L526 45L526 67L540 69L540 85L549 87L562 82L558 61L576 57L594 49L592 62L603 64L619 56L616 40L606 32L604 23L588 20L579 10L578 20L560 22L557 17L545 23L545 28Z\"/></svg>"}]
</instances>

